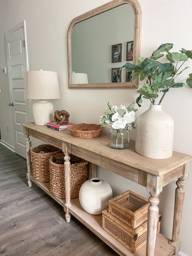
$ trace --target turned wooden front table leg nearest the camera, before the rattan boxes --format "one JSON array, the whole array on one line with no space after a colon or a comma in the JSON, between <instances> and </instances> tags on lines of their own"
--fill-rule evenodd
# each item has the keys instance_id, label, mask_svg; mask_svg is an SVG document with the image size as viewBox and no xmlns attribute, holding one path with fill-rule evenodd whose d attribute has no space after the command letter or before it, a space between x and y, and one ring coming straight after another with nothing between
<instances>
[{"instance_id":1,"label":"turned wooden front table leg nearest the camera, before the rattan boxes","mask_svg":"<svg viewBox=\"0 0 192 256\"><path fill-rule=\"evenodd\" d=\"M159 214L159 194L163 189L163 176L147 175L147 190L151 195L148 198L147 244L146 256L154 256Z\"/></svg>"}]
</instances>

